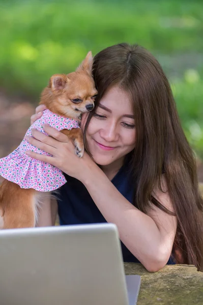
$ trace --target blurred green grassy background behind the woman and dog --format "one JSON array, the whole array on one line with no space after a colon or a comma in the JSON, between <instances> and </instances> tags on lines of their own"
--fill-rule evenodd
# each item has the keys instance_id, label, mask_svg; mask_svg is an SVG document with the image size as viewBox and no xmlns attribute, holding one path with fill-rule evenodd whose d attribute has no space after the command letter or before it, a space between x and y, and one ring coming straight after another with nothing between
<instances>
[{"instance_id":1,"label":"blurred green grassy background behind the woman and dog","mask_svg":"<svg viewBox=\"0 0 203 305\"><path fill-rule=\"evenodd\" d=\"M52 74L120 42L160 61L203 181L201 0L0 0L0 157L22 140Z\"/></svg>"}]
</instances>

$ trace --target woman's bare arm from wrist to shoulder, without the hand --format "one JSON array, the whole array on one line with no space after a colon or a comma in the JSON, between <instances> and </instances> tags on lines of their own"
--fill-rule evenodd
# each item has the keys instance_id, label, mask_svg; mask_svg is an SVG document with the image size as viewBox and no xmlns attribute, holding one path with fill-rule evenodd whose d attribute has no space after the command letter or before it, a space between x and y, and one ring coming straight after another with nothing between
<instances>
[{"instance_id":1,"label":"woman's bare arm from wrist to shoulder, without the hand","mask_svg":"<svg viewBox=\"0 0 203 305\"><path fill-rule=\"evenodd\" d=\"M158 271L167 263L177 229L177 219L153 206L148 214L134 207L97 166L85 171L81 180L107 222L117 225L120 238L130 252L149 270ZM163 184L166 182L163 177ZM169 195L153 194L172 210Z\"/></svg>"}]
</instances>

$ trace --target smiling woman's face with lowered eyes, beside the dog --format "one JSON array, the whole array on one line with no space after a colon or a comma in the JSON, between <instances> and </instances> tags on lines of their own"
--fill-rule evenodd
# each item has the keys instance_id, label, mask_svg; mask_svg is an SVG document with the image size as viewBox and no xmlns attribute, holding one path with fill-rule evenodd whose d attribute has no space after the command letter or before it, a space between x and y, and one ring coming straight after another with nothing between
<instances>
[{"instance_id":1,"label":"smiling woman's face with lowered eyes, beside the dog","mask_svg":"<svg viewBox=\"0 0 203 305\"><path fill-rule=\"evenodd\" d=\"M85 118L86 114L83 114L82 129ZM110 88L100 100L86 131L90 153L98 165L105 166L115 161L123 164L124 157L135 147L134 124L127 93L119 86Z\"/></svg>"}]
</instances>

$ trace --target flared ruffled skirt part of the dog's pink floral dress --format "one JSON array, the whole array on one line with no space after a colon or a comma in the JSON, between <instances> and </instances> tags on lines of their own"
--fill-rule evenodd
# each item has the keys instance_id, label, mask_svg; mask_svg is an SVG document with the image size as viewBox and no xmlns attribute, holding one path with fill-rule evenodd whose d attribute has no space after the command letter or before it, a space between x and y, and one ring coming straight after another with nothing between
<instances>
[{"instance_id":1,"label":"flared ruffled skirt part of the dog's pink floral dress","mask_svg":"<svg viewBox=\"0 0 203 305\"><path fill-rule=\"evenodd\" d=\"M60 169L20 154L19 148L0 159L0 175L16 183L21 189L34 189L40 192L54 191L66 183Z\"/></svg>"}]
</instances>

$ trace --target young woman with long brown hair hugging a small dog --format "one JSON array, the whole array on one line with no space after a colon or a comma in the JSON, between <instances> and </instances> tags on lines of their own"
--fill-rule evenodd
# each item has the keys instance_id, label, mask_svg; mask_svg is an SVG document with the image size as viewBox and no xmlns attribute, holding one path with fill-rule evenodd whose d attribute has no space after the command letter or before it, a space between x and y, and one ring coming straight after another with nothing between
<instances>
[{"instance_id":1,"label":"young woman with long brown hair hugging a small dog","mask_svg":"<svg viewBox=\"0 0 203 305\"><path fill-rule=\"evenodd\" d=\"M95 109L81 119L86 152L78 159L68 138L44 126L30 143L52 157L32 158L61 169L61 225L118 226L124 261L149 271L181 262L203 268L202 209L196 163L181 128L167 78L138 45L108 47L94 57ZM36 108L31 122L41 116ZM90 157L91 156L91 157ZM51 225L44 204L39 225Z\"/></svg>"}]
</instances>

